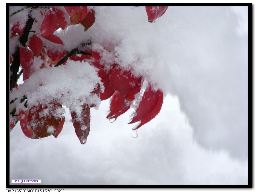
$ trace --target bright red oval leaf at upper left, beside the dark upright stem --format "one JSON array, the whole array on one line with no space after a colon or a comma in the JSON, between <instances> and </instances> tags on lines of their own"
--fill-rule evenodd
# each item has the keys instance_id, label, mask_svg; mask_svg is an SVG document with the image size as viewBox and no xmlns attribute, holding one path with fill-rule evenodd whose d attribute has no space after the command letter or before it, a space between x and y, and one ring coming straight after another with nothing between
<instances>
[{"instance_id":1,"label":"bright red oval leaf at upper left, beside the dark upright stem","mask_svg":"<svg viewBox=\"0 0 258 194\"><path fill-rule=\"evenodd\" d=\"M55 32L55 30L59 28L57 21L58 21L57 16L52 12L48 13L45 16L40 27L41 35L44 38L51 36Z\"/></svg>"}]
</instances>

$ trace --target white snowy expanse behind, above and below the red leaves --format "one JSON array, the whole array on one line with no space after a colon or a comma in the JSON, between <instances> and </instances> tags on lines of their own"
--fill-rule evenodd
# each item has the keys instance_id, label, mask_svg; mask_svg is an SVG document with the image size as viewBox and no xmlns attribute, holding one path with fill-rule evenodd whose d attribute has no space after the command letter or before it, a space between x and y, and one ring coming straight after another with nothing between
<instances>
[{"instance_id":1,"label":"white snowy expanse behind, above and below the red leaves","mask_svg":"<svg viewBox=\"0 0 258 194\"><path fill-rule=\"evenodd\" d=\"M65 34L78 41L72 30L83 27ZM248 184L247 32L247 7L169 7L155 24L144 7L97 7L85 36L94 34L93 42L117 51L122 66L157 83L167 94L160 114L132 138L132 111L109 123L109 100L102 101L91 109L85 145L68 110L57 139L29 139L18 123L10 133L10 179Z\"/></svg>"}]
</instances>

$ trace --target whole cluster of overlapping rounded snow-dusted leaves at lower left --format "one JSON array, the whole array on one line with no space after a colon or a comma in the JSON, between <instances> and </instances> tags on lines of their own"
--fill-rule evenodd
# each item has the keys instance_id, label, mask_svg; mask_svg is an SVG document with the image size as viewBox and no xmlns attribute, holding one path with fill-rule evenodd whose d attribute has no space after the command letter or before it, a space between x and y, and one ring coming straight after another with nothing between
<instances>
[{"instance_id":1,"label":"whole cluster of overlapping rounded snow-dusted leaves at lower left","mask_svg":"<svg viewBox=\"0 0 258 194\"><path fill-rule=\"evenodd\" d=\"M53 113L62 104L50 103L29 107L27 112L19 111L21 129L29 138L43 138L53 135L55 138L61 132L64 125L64 117L56 118Z\"/></svg>"}]
</instances>

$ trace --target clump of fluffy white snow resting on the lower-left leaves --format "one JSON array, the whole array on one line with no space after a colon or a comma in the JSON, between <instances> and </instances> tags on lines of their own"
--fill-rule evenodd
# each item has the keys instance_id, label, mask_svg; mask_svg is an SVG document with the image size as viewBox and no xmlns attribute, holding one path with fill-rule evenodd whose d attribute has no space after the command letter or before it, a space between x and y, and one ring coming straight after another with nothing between
<instances>
[{"instance_id":1,"label":"clump of fluffy white snow resting on the lower-left leaves","mask_svg":"<svg viewBox=\"0 0 258 194\"><path fill-rule=\"evenodd\" d=\"M67 61L67 65L36 70L11 93L11 99L18 97L13 103L17 110L24 108L19 101L26 95L29 107L57 101L80 115L85 103L98 108L100 99L91 93L97 84L103 85L95 67L87 62Z\"/></svg>"}]
</instances>

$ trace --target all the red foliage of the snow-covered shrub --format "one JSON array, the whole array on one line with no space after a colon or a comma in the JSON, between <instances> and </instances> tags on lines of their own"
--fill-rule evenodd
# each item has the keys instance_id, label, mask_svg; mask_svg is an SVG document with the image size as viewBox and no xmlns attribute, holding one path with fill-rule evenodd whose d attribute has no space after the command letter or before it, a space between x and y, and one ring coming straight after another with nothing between
<instances>
[{"instance_id":1,"label":"all the red foliage of the snow-covered shrub","mask_svg":"<svg viewBox=\"0 0 258 194\"><path fill-rule=\"evenodd\" d=\"M84 31L86 31L95 22L95 11L93 9L89 10L88 7L79 6L67 6L64 8L70 17L69 25L80 23L84 26ZM146 7L148 21L154 23L157 18L166 12L167 8L168 7ZM40 62L41 66L39 68L55 65L65 56L74 61L87 61L98 69L98 76L101 78L101 82L104 86L103 92L101 92L100 84L98 84L91 93L97 94L101 100L111 98L110 110L106 118L116 120L118 116L129 110L136 96L139 96L136 94L140 93L144 78L142 76L134 76L130 70L123 69L119 64L112 64L111 66L102 64L101 62L105 61L101 60L103 55L97 51L91 51L91 43L87 44L87 46L80 44L80 46L78 45L77 48L72 50L73 52L69 50L53 50L55 47L44 48L42 37L53 43L64 45L63 41L53 33L58 30L58 28L64 30L67 27L67 13L55 7L51 7L44 16L40 32L37 32L37 30L34 31L34 28L30 31L30 33L35 33L34 36L30 36L31 38L29 42L26 43L26 47L19 48L20 64L24 68L23 79L28 79L35 70L35 68L31 68L34 61L33 53L36 57L40 56L41 61L43 61ZM43 15L43 13L41 14ZM35 20L35 22L38 21ZM13 38L17 36L17 34L21 36L24 28L25 27L21 29L20 24L16 23L10 30L10 37ZM40 37L40 35L42 37ZM58 48L64 47L59 45ZM87 53L91 54L91 56L87 55ZM13 56L10 56L10 63L12 63L13 60ZM17 58L15 58L15 60L17 60ZM65 60L63 64L66 64ZM138 129L143 124L155 118L160 112L162 103L163 93L160 90L153 90L149 85L140 100L137 110L135 110L132 120L129 122L130 124L139 122L133 130ZM86 139L89 135L90 108L94 106L94 103L91 106L84 104L79 115L77 115L78 113L76 111L70 112L75 133L81 144L86 143ZM18 119L20 120L21 129L25 136L37 139L53 135L57 138L63 128L64 117L57 117L54 113L56 109L61 107L62 104L60 103L50 103L47 105L40 104L38 106L28 107L26 111L19 110ZM14 125L15 123L11 123L10 128L12 129Z\"/></svg>"}]
</instances>

